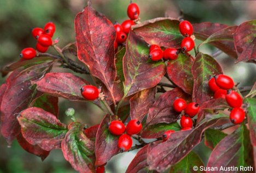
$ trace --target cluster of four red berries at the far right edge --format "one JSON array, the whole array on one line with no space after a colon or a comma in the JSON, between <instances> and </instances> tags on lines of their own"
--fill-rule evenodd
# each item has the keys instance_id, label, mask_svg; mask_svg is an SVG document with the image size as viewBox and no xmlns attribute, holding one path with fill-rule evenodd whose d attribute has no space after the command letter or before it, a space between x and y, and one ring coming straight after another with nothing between
<instances>
[{"instance_id":1,"label":"cluster of four red berries at the far right edge","mask_svg":"<svg viewBox=\"0 0 256 173\"><path fill-rule=\"evenodd\" d=\"M208 86L214 92L214 98L225 98L233 108L230 112L230 121L234 124L243 122L245 119L245 111L241 108L243 99L240 94L231 90L234 81L229 76L218 75L210 79Z\"/></svg>"}]
</instances>

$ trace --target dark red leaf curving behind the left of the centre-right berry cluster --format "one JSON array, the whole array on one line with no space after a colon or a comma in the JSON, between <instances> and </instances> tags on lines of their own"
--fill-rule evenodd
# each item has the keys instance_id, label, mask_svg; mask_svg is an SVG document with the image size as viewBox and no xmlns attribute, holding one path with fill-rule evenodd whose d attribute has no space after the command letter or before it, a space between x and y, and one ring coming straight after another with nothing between
<instances>
[{"instance_id":1,"label":"dark red leaf curving behind the left of the centre-right berry cluster","mask_svg":"<svg viewBox=\"0 0 256 173\"><path fill-rule=\"evenodd\" d=\"M183 92L180 88L174 88L162 94L149 109L147 125L155 125L157 123L172 123L179 118L179 113L173 109L173 102L176 97L183 98L189 103L191 97Z\"/></svg>"}]
</instances>

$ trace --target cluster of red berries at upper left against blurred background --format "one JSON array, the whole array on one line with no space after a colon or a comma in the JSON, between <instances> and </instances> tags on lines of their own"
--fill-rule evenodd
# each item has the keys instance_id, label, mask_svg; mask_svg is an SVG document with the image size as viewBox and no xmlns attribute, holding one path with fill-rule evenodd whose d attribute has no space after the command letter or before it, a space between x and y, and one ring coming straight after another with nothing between
<instances>
[{"instance_id":1,"label":"cluster of red berries at upper left against blurred background","mask_svg":"<svg viewBox=\"0 0 256 173\"><path fill-rule=\"evenodd\" d=\"M37 39L36 50L38 52L46 52L48 47L53 44L51 38L53 37L54 32L55 24L53 22L46 23L44 29L34 28L32 30L33 37ZM21 51L20 57L24 59L32 59L37 55L36 50L32 47L24 48L24 50Z\"/></svg>"}]
</instances>

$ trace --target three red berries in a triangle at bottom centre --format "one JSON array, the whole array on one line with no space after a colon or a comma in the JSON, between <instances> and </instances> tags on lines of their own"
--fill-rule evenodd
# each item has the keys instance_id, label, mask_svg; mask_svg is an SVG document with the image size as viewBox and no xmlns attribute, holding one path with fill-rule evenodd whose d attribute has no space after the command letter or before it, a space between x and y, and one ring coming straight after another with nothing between
<instances>
[{"instance_id":1,"label":"three red berries in a triangle at bottom centre","mask_svg":"<svg viewBox=\"0 0 256 173\"><path fill-rule=\"evenodd\" d=\"M120 135L118 139L118 147L121 151L131 149L132 139L130 135L138 134L142 129L142 124L139 120L131 120L127 123L126 127L122 121L112 121L108 127L110 133ZM124 132L126 131L126 134Z\"/></svg>"}]
</instances>

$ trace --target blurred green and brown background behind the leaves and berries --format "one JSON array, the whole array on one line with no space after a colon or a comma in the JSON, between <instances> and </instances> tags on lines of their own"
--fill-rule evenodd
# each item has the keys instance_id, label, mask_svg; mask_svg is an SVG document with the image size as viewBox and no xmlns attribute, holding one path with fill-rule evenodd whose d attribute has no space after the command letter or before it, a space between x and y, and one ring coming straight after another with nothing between
<instances>
[{"instance_id":1,"label":"blurred green and brown background behind the leaves and berries","mask_svg":"<svg viewBox=\"0 0 256 173\"><path fill-rule=\"evenodd\" d=\"M126 8L130 0L92 0L92 7L106 15L113 23L127 19ZM256 18L256 1L134 1L141 10L141 21L155 17L177 18L183 11L185 20L196 22L218 22L229 25L240 24ZM74 17L87 4L85 0L0 0L0 67L19 59L20 51L25 47L34 47L36 40L31 35L34 27L43 27L48 21L56 24L54 38L59 37L60 47L75 41ZM196 42L199 44L200 42ZM204 53L212 54L213 47L200 48ZM49 49L50 53L54 53ZM216 57L226 75L240 82L240 86L253 85L256 81L256 66L251 63L238 63L222 53ZM83 76L85 77L85 76ZM5 78L0 78L0 84ZM60 119L70 122L64 112L73 107L78 120L88 126L99 123L103 113L90 103L74 103L60 99ZM14 141L8 147L0 137L0 173L2 172L75 172L63 158L60 150L54 150L42 162L40 158L27 153ZM137 151L113 157L106 166L107 172L125 172ZM207 162L211 150L203 144L195 148L203 162Z\"/></svg>"}]
</instances>

